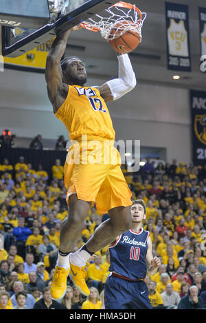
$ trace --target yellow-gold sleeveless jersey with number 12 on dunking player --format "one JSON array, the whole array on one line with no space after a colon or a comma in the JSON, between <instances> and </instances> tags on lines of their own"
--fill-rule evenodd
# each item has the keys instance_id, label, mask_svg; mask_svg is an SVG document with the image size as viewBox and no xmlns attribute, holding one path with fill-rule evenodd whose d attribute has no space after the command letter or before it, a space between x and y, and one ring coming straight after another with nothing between
<instances>
[{"instance_id":1,"label":"yellow-gold sleeveless jersey with number 12 on dunking player","mask_svg":"<svg viewBox=\"0 0 206 323\"><path fill-rule=\"evenodd\" d=\"M67 98L55 115L65 124L70 140L82 135L115 139L108 108L95 87L69 85Z\"/></svg>"}]
</instances>

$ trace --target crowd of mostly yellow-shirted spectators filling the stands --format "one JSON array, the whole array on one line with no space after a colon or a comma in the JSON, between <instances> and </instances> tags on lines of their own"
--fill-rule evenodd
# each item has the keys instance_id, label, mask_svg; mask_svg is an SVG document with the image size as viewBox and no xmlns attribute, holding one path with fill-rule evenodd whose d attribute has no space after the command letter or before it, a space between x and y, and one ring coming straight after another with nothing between
<instances>
[{"instance_id":1,"label":"crowd of mostly yellow-shirted spectators filling the stands","mask_svg":"<svg viewBox=\"0 0 206 323\"><path fill-rule=\"evenodd\" d=\"M23 156L14 165L8 159L0 163L0 309L104 309L109 246L87 263L88 298L69 278L62 301L51 298L60 225L68 215L60 160L52 166L52 181ZM126 166L122 171L133 199L146 203L144 229L161 259L157 274L145 278L152 307L206 308L206 165L174 160L155 168L148 157L138 172ZM106 219L108 214L91 208L73 252Z\"/></svg>"}]
</instances>

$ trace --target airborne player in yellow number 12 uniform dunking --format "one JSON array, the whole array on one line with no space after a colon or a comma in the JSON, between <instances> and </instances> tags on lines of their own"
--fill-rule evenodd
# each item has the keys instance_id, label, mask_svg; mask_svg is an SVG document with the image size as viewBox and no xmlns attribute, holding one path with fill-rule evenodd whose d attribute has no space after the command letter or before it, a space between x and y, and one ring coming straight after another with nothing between
<instances>
[{"instance_id":1,"label":"airborne player in yellow number 12 uniform dunking","mask_svg":"<svg viewBox=\"0 0 206 323\"><path fill-rule=\"evenodd\" d=\"M80 28L73 27L73 30L78 29ZM55 300L64 296L68 274L81 293L89 295L84 280L87 260L114 241L116 236L126 232L131 225L131 192L120 168L119 153L113 146L115 131L105 102L118 99L135 87L133 67L128 54L117 53L119 78L109 80L101 87L85 87L87 72L82 60L72 57L61 62L70 32L62 33L54 40L45 70L49 100L56 117L69 131L72 143L65 161L69 216L62 222L60 229L60 247L51 286L52 298ZM87 143L83 139L85 135ZM106 158L106 164L83 160L85 153L87 157L95 151L93 144L88 148L93 141L100 147L96 156L98 161L105 157L105 145L108 148L110 154ZM73 153L78 149L80 162L73 163ZM114 155L117 156L115 164L112 163ZM108 211L109 219L95 230L78 252L72 254L71 250L80 237L82 223L89 213L91 203L96 203L102 214Z\"/></svg>"}]
</instances>

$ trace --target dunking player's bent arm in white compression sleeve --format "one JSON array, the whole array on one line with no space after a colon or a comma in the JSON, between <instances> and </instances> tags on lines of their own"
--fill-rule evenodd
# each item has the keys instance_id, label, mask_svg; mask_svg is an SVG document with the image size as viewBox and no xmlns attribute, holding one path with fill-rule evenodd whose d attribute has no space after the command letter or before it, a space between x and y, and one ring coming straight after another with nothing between
<instances>
[{"instance_id":1,"label":"dunking player's bent arm in white compression sleeve","mask_svg":"<svg viewBox=\"0 0 206 323\"><path fill-rule=\"evenodd\" d=\"M128 93L137 84L128 54L117 53L119 63L118 78L109 80L100 87L100 94L106 102L117 100Z\"/></svg>"}]
</instances>

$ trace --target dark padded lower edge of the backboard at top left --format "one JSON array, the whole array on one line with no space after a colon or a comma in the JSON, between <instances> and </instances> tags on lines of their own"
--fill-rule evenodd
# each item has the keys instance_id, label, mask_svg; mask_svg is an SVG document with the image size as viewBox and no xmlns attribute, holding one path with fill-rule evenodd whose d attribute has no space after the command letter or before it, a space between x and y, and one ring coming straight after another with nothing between
<instances>
[{"instance_id":1,"label":"dark padded lower edge of the backboard at top left","mask_svg":"<svg viewBox=\"0 0 206 323\"><path fill-rule=\"evenodd\" d=\"M32 50L34 47L49 41L54 36L71 29L82 21L87 20L98 12L113 5L117 0L69 0L75 1L74 8L64 16L60 16L54 23L48 23L38 30L26 30L15 43L10 42L10 27L1 28L1 54L17 57ZM83 3L83 4L82 4Z\"/></svg>"}]
</instances>

